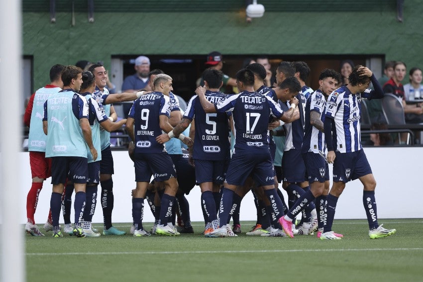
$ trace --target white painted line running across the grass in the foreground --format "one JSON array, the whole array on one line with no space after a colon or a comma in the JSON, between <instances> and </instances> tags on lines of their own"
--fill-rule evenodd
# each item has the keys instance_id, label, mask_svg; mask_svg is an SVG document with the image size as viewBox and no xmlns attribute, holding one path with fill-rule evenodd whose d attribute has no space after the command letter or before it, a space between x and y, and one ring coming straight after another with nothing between
<instances>
[{"instance_id":1,"label":"white painted line running across the grass in the foreground","mask_svg":"<svg viewBox=\"0 0 423 282\"><path fill-rule=\"evenodd\" d=\"M175 251L175 252L93 252L93 253L28 253L27 256L104 256L104 255L192 255L240 253L309 253L309 252L369 252L369 251L423 251L423 248L372 248L372 249L314 249L314 250L239 250L239 251Z\"/></svg>"}]
</instances>

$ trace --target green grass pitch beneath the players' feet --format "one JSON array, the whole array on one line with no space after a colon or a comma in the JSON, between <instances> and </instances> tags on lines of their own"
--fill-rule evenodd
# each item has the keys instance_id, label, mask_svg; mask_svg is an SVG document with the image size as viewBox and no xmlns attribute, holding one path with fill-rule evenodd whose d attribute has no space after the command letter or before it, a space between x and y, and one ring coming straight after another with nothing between
<instances>
[{"instance_id":1,"label":"green grass pitch beneath the players' feet","mask_svg":"<svg viewBox=\"0 0 423 282\"><path fill-rule=\"evenodd\" d=\"M236 238L205 238L201 222L193 223L195 234L179 237L26 235L26 276L31 282L423 281L423 219L379 223L397 233L371 240L366 220L335 220L342 240L246 236L253 222L241 222ZM129 233L130 223L114 226Z\"/></svg>"}]
</instances>

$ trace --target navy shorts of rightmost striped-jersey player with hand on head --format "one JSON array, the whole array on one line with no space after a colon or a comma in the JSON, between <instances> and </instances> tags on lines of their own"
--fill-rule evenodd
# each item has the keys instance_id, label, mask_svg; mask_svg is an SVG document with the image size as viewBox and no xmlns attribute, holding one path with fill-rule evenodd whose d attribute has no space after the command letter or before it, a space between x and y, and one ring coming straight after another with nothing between
<instances>
[{"instance_id":1,"label":"navy shorts of rightmost striped-jersey player with hand on head","mask_svg":"<svg viewBox=\"0 0 423 282\"><path fill-rule=\"evenodd\" d=\"M356 180L372 173L366 154L363 150L350 153L335 152L333 162L333 181L345 182Z\"/></svg>"}]
</instances>

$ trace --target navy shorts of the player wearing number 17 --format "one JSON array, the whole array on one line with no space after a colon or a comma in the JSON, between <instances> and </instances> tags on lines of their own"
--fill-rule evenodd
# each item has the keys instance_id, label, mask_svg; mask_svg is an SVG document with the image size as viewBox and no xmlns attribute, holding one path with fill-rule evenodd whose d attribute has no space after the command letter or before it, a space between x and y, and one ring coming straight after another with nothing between
<instances>
[{"instance_id":1,"label":"navy shorts of the player wearing number 17","mask_svg":"<svg viewBox=\"0 0 423 282\"><path fill-rule=\"evenodd\" d=\"M249 175L252 175L257 186L274 185L272 157L265 154L233 154L226 173L226 183L244 185Z\"/></svg>"}]
</instances>

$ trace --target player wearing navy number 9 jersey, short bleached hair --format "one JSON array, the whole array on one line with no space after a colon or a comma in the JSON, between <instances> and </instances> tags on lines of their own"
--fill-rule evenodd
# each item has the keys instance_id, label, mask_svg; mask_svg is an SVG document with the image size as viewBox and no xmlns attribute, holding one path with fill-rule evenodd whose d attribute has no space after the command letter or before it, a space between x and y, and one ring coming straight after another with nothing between
<instances>
[{"instance_id":1,"label":"player wearing navy number 9 jersey, short bleached hair","mask_svg":"<svg viewBox=\"0 0 423 282\"><path fill-rule=\"evenodd\" d=\"M155 181L163 182L165 186L156 233L177 236L180 233L174 230L171 223L172 206L178 190L176 171L165 147L156 141L156 137L162 130L169 133L173 130L169 123L171 107L169 93L173 90L172 78L165 74L159 74L153 85L155 92L142 95L135 100L126 121L128 134L135 143L136 189L132 199L134 236L149 235L142 227L142 217L144 197L152 175ZM174 135L169 134L169 137L174 137ZM189 137L180 134L179 139L191 145Z\"/></svg>"}]
</instances>

